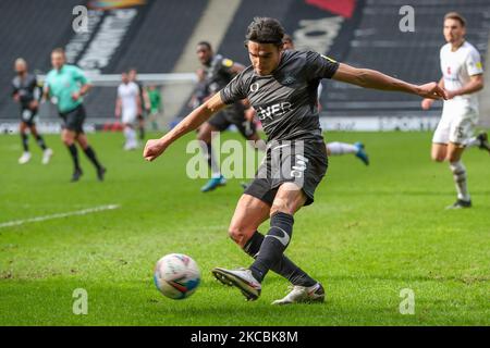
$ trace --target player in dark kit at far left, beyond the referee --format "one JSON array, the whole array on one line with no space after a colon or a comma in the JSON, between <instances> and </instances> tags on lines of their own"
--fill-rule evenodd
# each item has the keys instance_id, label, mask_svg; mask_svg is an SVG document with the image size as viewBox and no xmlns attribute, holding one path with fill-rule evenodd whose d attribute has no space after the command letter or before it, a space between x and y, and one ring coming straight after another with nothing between
<instances>
[{"instance_id":1,"label":"player in dark kit at far left, beyond the referee","mask_svg":"<svg viewBox=\"0 0 490 348\"><path fill-rule=\"evenodd\" d=\"M48 164L52 156L52 150L46 146L45 139L36 128L36 119L39 108L39 100L42 97L41 88L37 83L36 76L27 71L27 62L17 58L15 60L15 76L12 80L12 97L21 107L20 133L24 153L19 159L20 164L27 163L30 160L27 129L36 138L37 144L42 149L42 164Z\"/></svg>"}]
</instances>

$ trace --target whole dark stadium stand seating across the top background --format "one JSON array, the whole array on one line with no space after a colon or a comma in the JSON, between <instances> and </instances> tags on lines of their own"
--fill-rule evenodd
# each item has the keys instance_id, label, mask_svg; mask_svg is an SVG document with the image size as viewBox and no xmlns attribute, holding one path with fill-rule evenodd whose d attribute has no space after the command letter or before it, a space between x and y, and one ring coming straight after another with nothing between
<instances>
[{"instance_id":1,"label":"whole dark stadium stand seating across the top background","mask_svg":"<svg viewBox=\"0 0 490 348\"><path fill-rule=\"evenodd\" d=\"M42 7L30 0L0 3L2 91L10 88L12 62L16 57L24 57L32 71L42 73L49 70L49 52L53 47L65 47L73 40L76 41L77 37L72 30L72 9L77 2L79 1L46 0ZM135 7L137 15L128 24L125 35L100 72L119 74L131 66L137 67L139 73L173 72L186 45L196 39L197 23L207 17L204 13L211 2L212 0L142 1L144 4ZM243 47L246 27L252 17L267 15L279 18L301 49L308 48L309 45L339 61L381 70L413 83L437 80L440 77L439 49L444 44L442 16L455 10L468 20L468 40L483 58L487 54L489 1L412 1L411 5L415 9L415 33L402 33L399 29L399 22L403 16L399 11L403 5L404 0L241 1L217 51L247 64L248 57ZM97 41L97 33L109 22L108 17L114 15L113 12L117 11L103 14L97 12L100 21L95 26L96 34L90 34L83 50L75 54L76 63L87 63L84 57L89 55L90 45ZM25 26L24 22L15 20L15 13L24 13L24 22L29 25ZM206 26L206 23L200 22L200 25L212 27L212 23ZM326 85L321 98L323 115L348 117L421 113L417 97L366 90L335 82ZM114 96L115 88L95 88L86 101L89 116L113 117ZM437 105L440 108L441 103ZM0 122L15 120L16 112L16 105L10 98L0 98ZM432 113L439 114L437 108ZM56 117L52 110L50 116L53 120Z\"/></svg>"}]
</instances>

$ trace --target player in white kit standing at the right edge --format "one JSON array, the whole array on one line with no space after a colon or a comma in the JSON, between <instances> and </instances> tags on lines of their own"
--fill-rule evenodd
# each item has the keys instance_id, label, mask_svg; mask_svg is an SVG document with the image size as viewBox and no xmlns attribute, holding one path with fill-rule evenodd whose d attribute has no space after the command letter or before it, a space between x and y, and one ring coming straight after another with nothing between
<instances>
[{"instance_id":1,"label":"player in white kit standing at the right edge","mask_svg":"<svg viewBox=\"0 0 490 348\"><path fill-rule=\"evenodd\" d=\"M466 21L456 13L444 16L444 38L441 48L442 78L439 85L448 92L442 116L432 138L432 160L448 161L456 185L457 200L449 209L471 207L466 183L466 167L462 154L466 148L478 146L490 152L487 134L474 137L478 122L476 92L483 88L483 70L480 54L465 40ZM424 99L421 107L428 110L433 100Z\"/></svg>"}]
</instances>

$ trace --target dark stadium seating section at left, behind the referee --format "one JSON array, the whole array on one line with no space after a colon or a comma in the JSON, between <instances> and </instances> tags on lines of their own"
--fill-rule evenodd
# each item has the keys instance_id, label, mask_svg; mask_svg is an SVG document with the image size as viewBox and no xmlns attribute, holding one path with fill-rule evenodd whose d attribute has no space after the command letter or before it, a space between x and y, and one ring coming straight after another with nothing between
<instances>
[{"instance_id":1,"label":"dark stadium seating section at left, behind the referee","mask_svg":"<svg viewBox=\"0 0 490 348\"><path fill-rule=\"evenodd\" d=\"M139 73L168 73L184 49L193 32L193 24L197 23L206 8L206 1L193 1L191 7L186 1L166 0L146 1L145 5L136 8L138 14L131 22L118 47L110 55L109 63L101 69L101 73L119 74L128 67L137 67ZM46 73L50 69L49 54L54 47L66 47L76 39L72 29L74 15L72 10L79 1L48 0L42 7L36 1L19 0L9 4L0 4L1 33L7 35L0 57L0 88L10 90L13 77L13 61L24 57L32 71ZM90 45L101 35L101 27L110 27L109 18L117 11L107 11L96 26L95 34L84 42L84 50L77 55L75 63L79 64L87 57ZM25 13L28 26L20 23L14 13ZM179 13L179 15L175 15ZM113 25L115 27L117 24ZM100 38L100 37L99 37ZM105 42L102 42L105 44ZM89 116L99 119L113 117L115 88L94 88L86 99ZM45 110L44 116L56 119L52 108ZM10 98L0 98L0 120L16 119L17 107Z\"/></svg>"}]
</instances>

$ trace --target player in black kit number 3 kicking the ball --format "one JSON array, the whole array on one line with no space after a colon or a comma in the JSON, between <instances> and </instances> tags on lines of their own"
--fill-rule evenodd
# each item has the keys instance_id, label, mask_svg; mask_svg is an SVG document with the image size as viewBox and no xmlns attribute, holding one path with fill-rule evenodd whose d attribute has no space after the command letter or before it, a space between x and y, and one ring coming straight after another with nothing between
<instances>
[{"instance_id":1,"label":"player in black kit number 3 kicking the ball","mask_svg":"<svg viewBox=\"0 0 490 348\"><path fill-rule=\"evenodd\" d=\"M296 211L313 203L328 166L317 110L320 79L333 78L365 88L403 91L424 98L446 98L432 82L412 85L368 69L356 69L311 51L283 50L284 30L274 18L256 17L248 26L246 48L252 65L219 94L194 110L160 139L148 140L144 158L152 161L177 138L195 129L226 104L248 98L268 136L266 161L238 200L229 234L255 259L247 269L216 268L213 275L237 287L248 300L260 296L269 270L293 285L275 304L321 302L322 285L284 254ZM280 153L279 156L277 153ZM266 236L258 226L270 219Z\"/></svg>"}]
</instances>

